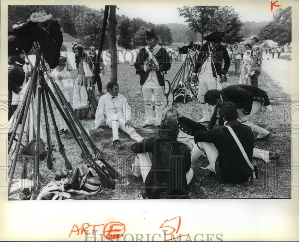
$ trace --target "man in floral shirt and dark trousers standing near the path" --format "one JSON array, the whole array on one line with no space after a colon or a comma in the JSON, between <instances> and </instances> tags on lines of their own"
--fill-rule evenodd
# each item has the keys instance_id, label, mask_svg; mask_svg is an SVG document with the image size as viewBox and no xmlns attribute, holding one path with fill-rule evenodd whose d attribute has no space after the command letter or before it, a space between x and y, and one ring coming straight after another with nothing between
<instances>
[{"instance_id":1,"label":"man in floral shirt and dark trousers standing near the path","mask_svg":"<svg viewBox=\"0 0 299 242\"><path fill-rule=\"evenodd\" d=\"M259 45L259 37L253 35L249 39L249 44L252 46L250 53L250 67L248 69L248 76L250 76L251 85L257 86L258 78L261 73L263 50ZM251 72L254 74L251 75Z\"/></svg>"}]
</instances>

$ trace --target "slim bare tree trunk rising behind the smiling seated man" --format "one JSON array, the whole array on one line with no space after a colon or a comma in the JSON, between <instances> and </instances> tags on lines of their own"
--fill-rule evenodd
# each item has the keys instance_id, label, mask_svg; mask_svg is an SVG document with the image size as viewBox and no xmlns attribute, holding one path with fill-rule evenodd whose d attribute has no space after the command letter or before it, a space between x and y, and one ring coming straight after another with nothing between
<instances>
[{"instance_id":1,"label":"slim bare tree trunk rising behind the smiling seated man","mask_svg":"<svg viewBox=\"0 0 299 242\"><path fill-rule=\"evenodd\" d=\"M116 6L110 6L110 15L109 15L110 51L112 56L110 81L112 82L117 82L117 50L116 50L117 19L116 19L115 9Z\"/></svg>"}]
</instances>

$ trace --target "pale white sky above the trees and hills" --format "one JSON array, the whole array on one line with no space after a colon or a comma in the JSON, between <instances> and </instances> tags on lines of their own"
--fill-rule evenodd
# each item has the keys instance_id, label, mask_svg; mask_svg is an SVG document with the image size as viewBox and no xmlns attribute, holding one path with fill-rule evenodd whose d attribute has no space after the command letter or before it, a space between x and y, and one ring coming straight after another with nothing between
<instances>
[{"instance_id":1,"label":"pale white sky above the trees and hills","mask_svg":"<svg viewBox=\"0 0 299 242\"><path fill-rule=\"evenodd\" d=\"M274 2L274 1L273 1ZM289 1L278 1L280 7L288 6ZM112 5L112 3L109 3ZM278 7L273 7L271 12L271 1L122 1L115 2L119 9L116 13L132 18L141 18L153 24L184 23L184 17L180 17L178 7L184 5L229 5L239 13L242 22L246 21L271 21L273 12ZM100 9L105 6L89 4L89 7Z\"/></svg>"}]
</instances>

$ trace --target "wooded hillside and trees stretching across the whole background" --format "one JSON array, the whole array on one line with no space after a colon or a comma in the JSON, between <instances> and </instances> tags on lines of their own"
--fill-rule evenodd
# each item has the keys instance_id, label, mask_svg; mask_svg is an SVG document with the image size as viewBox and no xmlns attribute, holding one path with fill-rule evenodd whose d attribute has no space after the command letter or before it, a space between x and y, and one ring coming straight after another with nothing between
<instances>
[{"instance_id":1,"label":"wooded hillside and trees stretching across the whole background","mask_svg":"<svg viewBox=\"0 0 299 242\"><path fill-rule=\"evenodd\" d=\"M70 34L83 46L99 46L103 13L103 9L95 10L86 6L8 6L8 30L12 30L12 25L17 22L27 22L30 17L51 14L59 21L62 33ZM153 24L140 18L117 15L117 44L126 50L144 46L144 33L151 29L160 37L161 45L199 42L215 30L225 32L223 42L228 44L243 41L243 38L252 34L258 34L261 40L291 41L291 7L274 12L273 21L259 23L241 22L239 14L228 6L184 6L179 8L178 15L184 16L187 24ZM109 49L109 33L108 23L104 50Z\"/></svg>"}]
</instances>

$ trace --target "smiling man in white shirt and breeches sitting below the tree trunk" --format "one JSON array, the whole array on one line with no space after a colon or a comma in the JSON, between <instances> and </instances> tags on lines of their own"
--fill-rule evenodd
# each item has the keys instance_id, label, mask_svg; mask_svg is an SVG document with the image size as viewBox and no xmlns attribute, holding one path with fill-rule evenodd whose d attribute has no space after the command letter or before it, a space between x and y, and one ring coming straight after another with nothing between
<instances>
[{"instance_id":1,"label":"smiling man in white shirt and breeches sitting below the tree trunk","mask_svg":"<svg viewBox=\"0 0 299 242\"><path fill-rule=\"evenodd\" d=\"M124 148L118 137L118 128L126 134L129 134L132 140L136 140L137 142L143 140L144 138L135 131L130 122L131 109L127 99L122 94L118 93L118 84L116 82L108 82L106 87L108 93L100 98L95 113L95 127L91 128L89 131L94 131L97 128L100 128L105 119L104 115L106 114L106 125L108 125L109 128L112 128L113 144L116 145L118 149Z\"/></svg>"}]
</instances>

